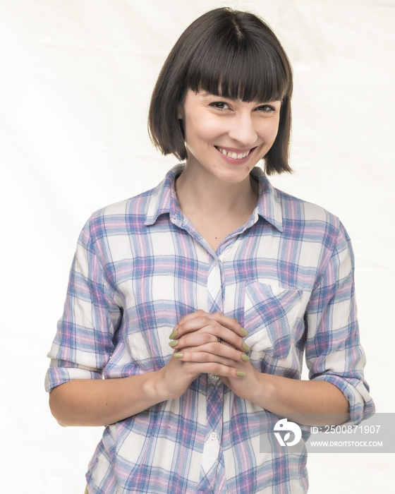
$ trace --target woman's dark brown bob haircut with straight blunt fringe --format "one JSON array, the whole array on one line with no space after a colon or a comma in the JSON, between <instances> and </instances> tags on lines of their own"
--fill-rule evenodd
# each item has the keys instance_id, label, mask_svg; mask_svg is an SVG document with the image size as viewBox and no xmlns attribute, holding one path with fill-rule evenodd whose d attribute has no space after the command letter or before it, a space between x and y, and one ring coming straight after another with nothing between
<instances>
[{"instance_id":1,"label":"woman's dark brown bob haircut with straight blunt fringe","mask_svg":"<svg viewBox=\"0 0 395 494\"><path fill-rule=\"evenodd\" d=\"M291 172L292 69L269 26L248 12L216 8L197 18L164 62L152 93L148 131L164 155L187 158L178 106L189 89L244 102L281 101L279 131L263 158L267 174Z\"/></svg>"}]
</instances>

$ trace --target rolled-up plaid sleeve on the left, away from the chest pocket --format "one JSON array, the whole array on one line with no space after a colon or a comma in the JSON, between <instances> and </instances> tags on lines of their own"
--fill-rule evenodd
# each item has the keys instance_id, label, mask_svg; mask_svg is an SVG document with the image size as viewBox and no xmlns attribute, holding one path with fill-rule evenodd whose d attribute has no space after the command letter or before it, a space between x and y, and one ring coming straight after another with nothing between
<instances>
[{"instance_id":1,"label":"rolled-up plaid sleeve on the left, away from the chest pocket","mask_svg":"<svg viewBox=\"0 0 395 494\"><path fill-rule=\"evenodd\" d=\"M71 266L66 303L49 351L45 389L74 379L100 379L114 349L121 310L103 268L103 255L85 224Z\"/></svg>"}]
</instances>

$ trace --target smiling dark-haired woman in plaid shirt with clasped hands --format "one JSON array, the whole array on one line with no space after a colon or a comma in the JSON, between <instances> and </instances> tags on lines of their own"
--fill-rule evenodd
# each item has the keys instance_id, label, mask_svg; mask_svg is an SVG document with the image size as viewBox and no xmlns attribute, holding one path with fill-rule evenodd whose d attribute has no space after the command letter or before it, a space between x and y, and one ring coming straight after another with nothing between
<instances>
[{"instance_id":1,"label":"smiling dark-haired woman in plaid shirt with clasped hands","mask_svg":"<svg viewBox=\"0 0 395 494\"><path fill-rule=\"evenodd\" d=\"M206 13L166 59L150 135L186 162L87 222L49 354L59 423L106 426L90 493L305 493L305 449L262 433L373 413L346 231L267 180L291 171L291 93L250 13Z\"/></svg>"}]
</instances>

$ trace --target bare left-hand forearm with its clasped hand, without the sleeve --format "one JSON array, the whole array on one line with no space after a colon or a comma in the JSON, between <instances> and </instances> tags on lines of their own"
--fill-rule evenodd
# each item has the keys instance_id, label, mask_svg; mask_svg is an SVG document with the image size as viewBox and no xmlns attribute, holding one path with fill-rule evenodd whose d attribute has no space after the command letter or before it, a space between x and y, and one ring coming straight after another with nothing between
<instances>
[{"instance_id":1,"label":"bare left-hand forearm with its clasped hand, without the sleeve","mask_svg":"<svg viewBox=\"0 0 395 494\"><path fill-rule=\"evenodd\" d=\"M184 343L189 345L188 362L173 356L156 372L65 382L49 394L49 406L56 420L62 426L107 426L154 404L180 397L200 373L241 379L237 372L243 363L243 332L234 320L197 311L181 319L177 329L188 335L184 337ZM219 344L218 337L232 346Z\"/></svg>"}]
</instances>

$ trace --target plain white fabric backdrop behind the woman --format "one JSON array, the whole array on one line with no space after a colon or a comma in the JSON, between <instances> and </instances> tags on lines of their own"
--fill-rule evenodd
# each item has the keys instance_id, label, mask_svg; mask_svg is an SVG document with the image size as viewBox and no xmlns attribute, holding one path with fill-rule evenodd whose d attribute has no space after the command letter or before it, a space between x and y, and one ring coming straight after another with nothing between
<instances>
[{"instance_id":1,"label":"plain white fabric backdrop behind the woman","mask_svg":"<svg viewBox=\"0 0 395 494\"><path fill-rule=\"evenodd\" d=\"M295 173L272 182L348 229L366 378L377 411L394 412L395 0L225 5L264 17L291 59ZM2 493L83 493L102 430L58 426L43 390L75 242L94 210L176 163L147 137L150 92L178 35L215 6L0 0ZM310 492L392 493L391 462L310 455Z\"/></svg>"}]
</instances>

